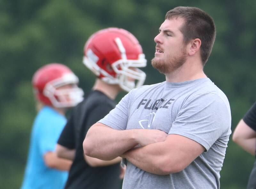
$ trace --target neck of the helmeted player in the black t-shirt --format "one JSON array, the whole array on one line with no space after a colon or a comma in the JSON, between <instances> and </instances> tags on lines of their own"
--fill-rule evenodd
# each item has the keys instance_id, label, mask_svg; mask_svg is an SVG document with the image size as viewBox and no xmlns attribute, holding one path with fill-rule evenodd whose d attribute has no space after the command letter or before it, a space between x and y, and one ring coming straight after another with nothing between
<instances>
[{"instance_id":1,"label":"neck of the helmeted player in the black t-shirt","mask_svg":"<svg viewBox=\"0 0 256 189\"><path fill-rule=\"evenodd\" d=\"M104 93L105 95L107 95L109 98L113 100L116 98L116 95L121 90L119 85L117 84L111 85L103 82L100 79L96 79L92 89L101 91L102 93Z\"/></svg>"}]
</instances>

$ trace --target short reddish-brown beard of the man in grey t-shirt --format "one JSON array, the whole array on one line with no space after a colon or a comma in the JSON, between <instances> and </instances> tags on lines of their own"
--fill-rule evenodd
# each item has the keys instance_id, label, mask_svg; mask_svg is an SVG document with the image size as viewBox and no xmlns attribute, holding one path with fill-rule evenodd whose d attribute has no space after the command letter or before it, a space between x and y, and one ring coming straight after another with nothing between
<instances>
[{"instance_id":1,"label":"short reddish-brown beard of the man in grey t-shirt","mask_svg":"<svg viewBox=\"0 0 256 189\"><path fill-rule=\"evenodd\" d=\"M173 72L174 70L177 70L179 67L181 67L185 61L187 60L187 55L185 49L181 50L180 56L171 56L168 57L168 59L158 59L154 57L151 60L151 64L154 68L156 68L160 73L162 74L168 74Z\"/></svg>"}]
</instances>

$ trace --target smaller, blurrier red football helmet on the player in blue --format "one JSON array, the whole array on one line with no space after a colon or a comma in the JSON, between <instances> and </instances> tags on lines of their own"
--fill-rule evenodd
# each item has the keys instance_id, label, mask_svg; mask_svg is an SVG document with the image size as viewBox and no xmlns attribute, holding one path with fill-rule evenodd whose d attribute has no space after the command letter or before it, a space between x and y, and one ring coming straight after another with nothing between
<instances>
[{"instance_id":1,"label":"smaller, blurrier red football helmet on the player in blue","mask_svg":"<svg viewBox=\"0 0 256 189\"><path fill-rule=\"evenodd\" d=\"M77 87L78 78L65 65L52 63L39 68L32 84L36 98L48 106L72 107L83 100L84 92ZM57 89L71 84L68 89Z\"/></svg>"}]
</instances>

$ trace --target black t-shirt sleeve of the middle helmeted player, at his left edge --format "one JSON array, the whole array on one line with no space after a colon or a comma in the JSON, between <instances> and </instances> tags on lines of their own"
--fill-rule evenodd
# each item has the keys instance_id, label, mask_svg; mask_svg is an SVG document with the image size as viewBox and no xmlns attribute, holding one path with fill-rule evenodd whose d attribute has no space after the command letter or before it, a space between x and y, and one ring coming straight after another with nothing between
<instances>
[{"instance_id":1,"label":"black t-shirt sleeve of the middle helmeted player, at his left edge","mask_svg":"<svg viewBox=\"0 0 256 189\"><path fill-rule=\"evenodd\" d=\"M68 122L62 130L57 143L69 149L75 148L74 110L68 118Z\"/></svg>"}]
</instances>

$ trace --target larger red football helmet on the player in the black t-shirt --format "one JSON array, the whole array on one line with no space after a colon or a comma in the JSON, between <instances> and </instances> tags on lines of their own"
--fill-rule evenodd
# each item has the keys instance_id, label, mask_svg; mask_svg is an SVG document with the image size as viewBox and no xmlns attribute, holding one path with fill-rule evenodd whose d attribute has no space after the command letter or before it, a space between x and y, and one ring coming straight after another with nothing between
<instances>
[{"instance_id":1,"label":"larger red football helmet on the player in the black t-shirt","mask_svg":"<svg viewBox=\"0 0 256 189\"><path fill-rule=\"evenodd\" d=\"M130 32L107 28L94 33L84 46L84 64L101 80L119 84L125 90L141 86L146 74L147 60L140 43Z\"/></svg>"}]
</instances>

